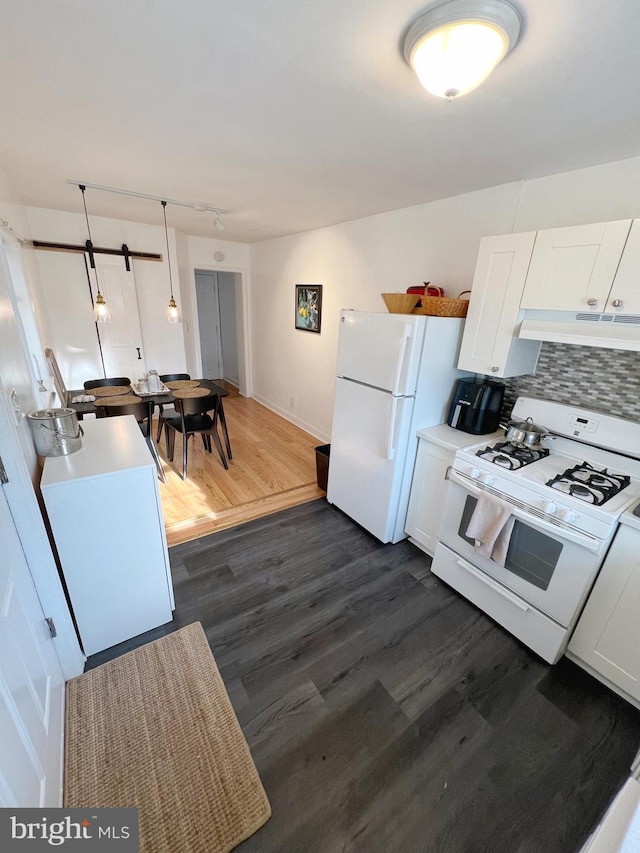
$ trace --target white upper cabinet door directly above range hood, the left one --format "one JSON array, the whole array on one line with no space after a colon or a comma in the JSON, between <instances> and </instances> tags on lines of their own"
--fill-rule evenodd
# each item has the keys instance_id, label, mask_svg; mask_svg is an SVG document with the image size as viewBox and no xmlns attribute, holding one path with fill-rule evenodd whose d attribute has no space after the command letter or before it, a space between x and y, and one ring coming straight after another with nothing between
<instances>
[{"instance_id":1,"label":"white upper cabinet door directly above range hood, the left one","mask_svg":"<svg viewBox=\"0 0 640 853\"><path fill-rule=\"evenodd\" d=\"M622 300L615 293L615 280L630 227L631 220L623 219L539 231L521 307L632 313L629 305L614 304ZM635 292L638 300L637 287Z\"/></svg>"}]
</instances>

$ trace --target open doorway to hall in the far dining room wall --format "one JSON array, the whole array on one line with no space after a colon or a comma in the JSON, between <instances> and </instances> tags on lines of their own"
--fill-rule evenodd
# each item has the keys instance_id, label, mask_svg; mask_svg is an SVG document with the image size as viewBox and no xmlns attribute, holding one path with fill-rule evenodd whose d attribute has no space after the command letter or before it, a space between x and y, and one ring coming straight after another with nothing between
<instances>
[{"instance_id":1,"label":"open doorway to hall in the far dining room wall","mask_svg":"<svg viewBox=\"0 0 640 853\"><path fill-rule=\"evenodd\" d=\"M196 307L202 374L240 387L236 292L241 275L195 270Z\"/></svg>"}]
</instances>

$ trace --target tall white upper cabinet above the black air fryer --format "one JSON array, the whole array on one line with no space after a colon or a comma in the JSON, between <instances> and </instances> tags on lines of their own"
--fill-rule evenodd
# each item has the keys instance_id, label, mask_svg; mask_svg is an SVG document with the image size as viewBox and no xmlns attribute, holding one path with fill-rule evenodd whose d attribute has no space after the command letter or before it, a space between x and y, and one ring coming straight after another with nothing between
<instances>
[{"instance_id":1,"label":"tall white upper cabinet above the black air fryer","mask_svg":"<svg viewBox=\"0 0 640 853\"><path fill-rule=\"evenodd\" d=\"M535 242L535 231L480 241L458 359L460 370L501 377L534 373L540 343L516 335Z\"/></svg>"}]
</instances>

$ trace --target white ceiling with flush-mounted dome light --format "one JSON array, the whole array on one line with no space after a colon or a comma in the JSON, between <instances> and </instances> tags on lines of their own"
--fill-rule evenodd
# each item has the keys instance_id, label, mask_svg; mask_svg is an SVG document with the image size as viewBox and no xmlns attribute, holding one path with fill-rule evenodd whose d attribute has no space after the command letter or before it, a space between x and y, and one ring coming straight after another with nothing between
<instances>
[{"instance_id":1,"label":"white ceiling with flush-mounted dome light","mask_svg":"<svg viewBox=\"0 0 640 853\"><path fill-rule=\"evenodd\" d=\"M512 2L515 50L448 103L402 57L434 3L3 0L0 168L27 205L80 211L77 179L228 208L223 233L167 217L254 242L639 154L638 0Z\"/></svg>"}]
</instances>

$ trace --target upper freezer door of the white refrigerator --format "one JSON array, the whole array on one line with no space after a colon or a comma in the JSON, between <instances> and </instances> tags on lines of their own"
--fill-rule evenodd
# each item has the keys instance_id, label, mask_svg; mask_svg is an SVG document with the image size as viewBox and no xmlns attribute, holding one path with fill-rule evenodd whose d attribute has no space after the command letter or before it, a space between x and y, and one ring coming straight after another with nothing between
<instances>
[{"instance_id":1,"label":"upper freezer door of the white refrigerator","mask_svg":"<svg viewBox=\"0 0 640 853\"><path fill-rule=\"evenodd\" d=\"M395 395L416 390L426 317L341 311L336 373Z\"/></svg>"}]
</instances>

